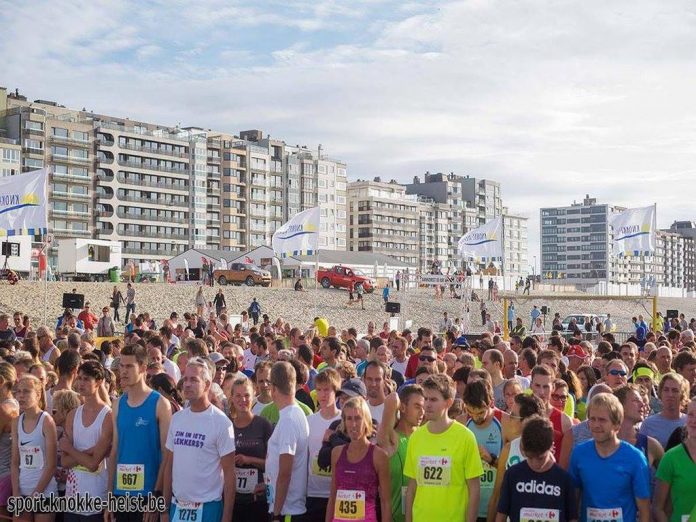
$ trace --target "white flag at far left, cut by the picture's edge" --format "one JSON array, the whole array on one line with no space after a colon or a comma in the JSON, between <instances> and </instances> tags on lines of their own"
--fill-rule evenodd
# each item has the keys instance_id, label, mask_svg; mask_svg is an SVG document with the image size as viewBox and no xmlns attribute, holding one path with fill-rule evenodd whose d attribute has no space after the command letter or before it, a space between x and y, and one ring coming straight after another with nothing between
<instances>
[{"instance_id":1,"label":"white flag at far left, cut by the picture's edge","mask_svg":"<svg viewBox=\"0 0 696 522\"><path fill-rule=\"evenodd\" d=\"M48 233L47 172L0 178L0 237Z\"/></svg>"}]
</instances>

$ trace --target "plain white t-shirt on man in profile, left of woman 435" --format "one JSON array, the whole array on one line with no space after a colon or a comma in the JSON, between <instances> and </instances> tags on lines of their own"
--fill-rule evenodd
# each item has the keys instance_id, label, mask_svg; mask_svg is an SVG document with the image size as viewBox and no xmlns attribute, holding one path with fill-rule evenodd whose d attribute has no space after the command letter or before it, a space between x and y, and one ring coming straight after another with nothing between
<instances>
[{"instance_id":1,"label":"plain white t-shirt on man in profile, left of woman 435","mask_svg":"<svg viewBox=\"0 0 696 522\"><path fill-rule=\"evenodd\" d=\"M306 512L307 496L307 460L309 455L309 425L307 417L297 404L291 404L280 410L278 424L273 435L268 439L266 451L266 500L268 512L273 513L276 491L278 491L278 472L280 456L293 455L292 472L285 504L280 510L283 515L302 515Z\"/></svg>"}]
</instances>

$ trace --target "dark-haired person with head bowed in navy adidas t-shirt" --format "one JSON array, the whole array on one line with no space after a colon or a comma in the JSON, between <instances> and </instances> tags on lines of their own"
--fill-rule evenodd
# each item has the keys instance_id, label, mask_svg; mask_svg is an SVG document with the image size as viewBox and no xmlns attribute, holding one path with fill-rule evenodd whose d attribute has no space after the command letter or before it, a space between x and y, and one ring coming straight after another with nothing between
<instances>
[{"instance_id":1,"label":"dark-haired person with head bowed in navy adidas t-shirt","mask_svg":"<svg viewBox=\"0 0 696 522\"><path fill-rule=\"evenodd\" d=\"M544 417L527 419L521 447L525 460L505 472L496 522L577 520L572 479L553 458L553 425Z\"/></svg>"}]
</instances>

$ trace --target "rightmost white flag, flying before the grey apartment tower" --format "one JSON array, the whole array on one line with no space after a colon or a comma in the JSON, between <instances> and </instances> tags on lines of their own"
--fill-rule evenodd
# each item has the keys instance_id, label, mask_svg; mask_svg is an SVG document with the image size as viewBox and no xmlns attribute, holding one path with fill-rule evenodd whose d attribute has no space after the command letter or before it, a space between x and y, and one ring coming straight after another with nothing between
<instances>
[{"instance_id":1,"label":"rightmost white flag, flying before the grey apartment tower","mask_svg":"<svg viewBox=\"0 0 696 522\"><path fill-rule=\"evenodd\" d=\"M655 206L629 208L609 217L614 229L613 253L640 256L655 252Z\"/></svg>"}]
</instances>

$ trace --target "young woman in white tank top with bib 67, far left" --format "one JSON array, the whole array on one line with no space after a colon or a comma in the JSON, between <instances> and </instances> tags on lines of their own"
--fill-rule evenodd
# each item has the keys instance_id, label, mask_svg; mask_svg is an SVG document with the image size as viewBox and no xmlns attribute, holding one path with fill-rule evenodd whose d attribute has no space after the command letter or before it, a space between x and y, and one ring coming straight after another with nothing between
<instances>
[{"instance_id":1,"label":"young woman in white tank top with bib 67, far left","mask_svg":"<svg viewBox=\"0 0 696 522\"><path fill-rule=\"evenodd\" d=\"M25 374L15 390L21 414L12 420L12 495L55 494L56 425L43 411L44 392L33 375ZM34 513L37 522L50 522L55 513Z\"/></svg>"}]
</instances>

